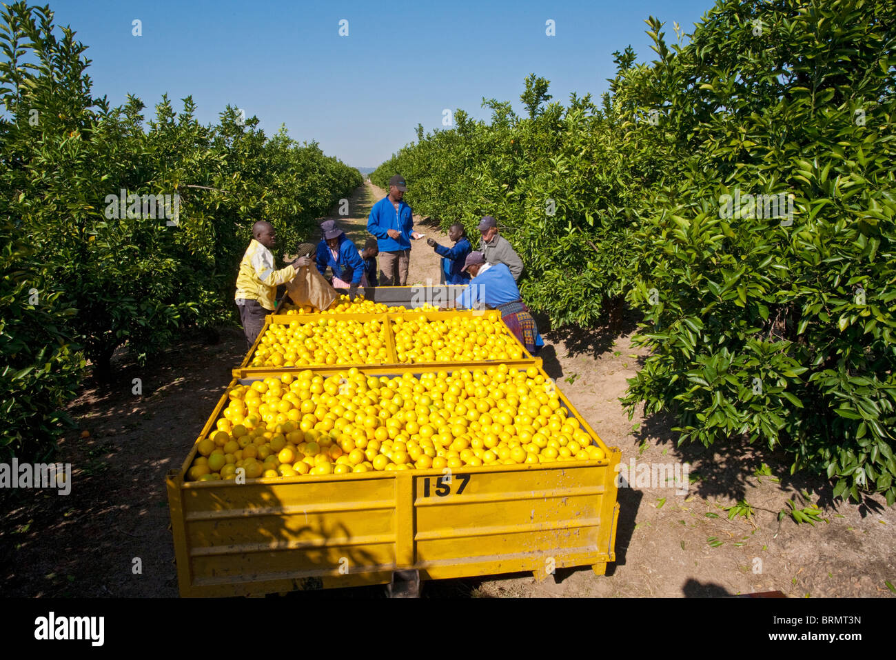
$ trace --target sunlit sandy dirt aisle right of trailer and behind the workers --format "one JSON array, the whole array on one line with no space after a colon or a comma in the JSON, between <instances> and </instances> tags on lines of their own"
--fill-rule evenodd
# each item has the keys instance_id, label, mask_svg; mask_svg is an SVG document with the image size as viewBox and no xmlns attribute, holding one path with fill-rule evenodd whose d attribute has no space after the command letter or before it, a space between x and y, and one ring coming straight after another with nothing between
<instances>
[{"instance_id":1,"label":"sunlit sandy dirt aisle right of trailer and behind the workers","mask_svg":"<svg viewBox=\"0 0 896 660\"><path fill-rule=\"evenodd\" d=\"M340 220L358 247L368 236L370 208L383 196L382 188L366 182L349 199L349 218L331 216ZM449 245L434 222L421 220L414 216L415 229ZM471 242L478 245L478 237ZM439 257L425 240L411 246L408 283L426 282L426 277L438 282ZM606 577L594 576L587 567L558 569L559 584L550 579L536 583L530 575L517 574L446 580L427 586L427 593L675 597L780 590L792 597L888 595L883 577L874 576L892 575L888 559L896 543L892 508L863 516L855 506L840 506L837 513L842 517L830 509L826 513L830 524L797 527L788 519L782 524L777 512L786 508L789 498L800 500L795 491L814 490L810 480L796 478L782 487L771 479L750 476L762 470L763 464L778 464L775 470L785 472L780 467L786 460L782 456L760 447L676 447L674 424L661 415L645 421L641 406L629 420L619 397L625 395L627 379L636 375L639 360L647 355L633 347L634 329L633 318L626 317L616 332L602 327L543 332L547 345L540 357L548 375L607 446L622 450L625 465L634 461L652 468L687 463L687 491L653 482L619 490L617 562L610 565L611 574ZM818 497L816 492L812 500ZM724 507L738 499L757 507L755 528L743 519L728 519ZM711 545L707 539L712 538L722 544ZM818 547L836 547L837 552L819 557Z\"/></svg>"}]
</instances>

